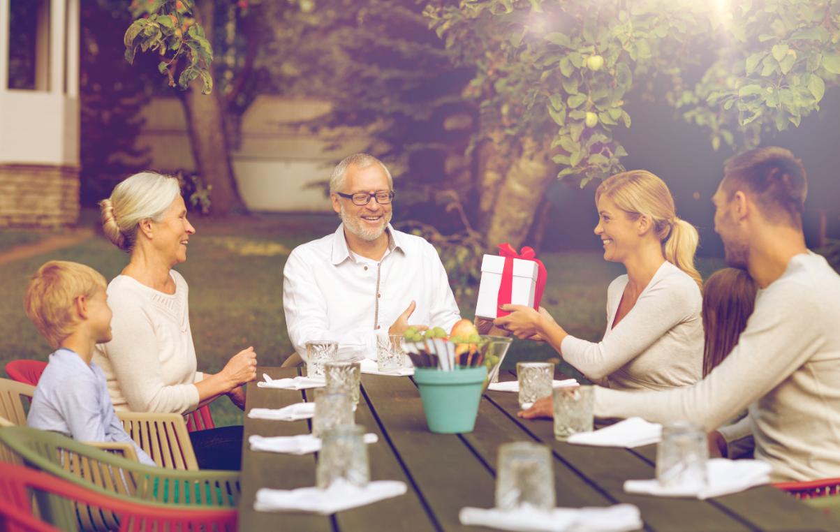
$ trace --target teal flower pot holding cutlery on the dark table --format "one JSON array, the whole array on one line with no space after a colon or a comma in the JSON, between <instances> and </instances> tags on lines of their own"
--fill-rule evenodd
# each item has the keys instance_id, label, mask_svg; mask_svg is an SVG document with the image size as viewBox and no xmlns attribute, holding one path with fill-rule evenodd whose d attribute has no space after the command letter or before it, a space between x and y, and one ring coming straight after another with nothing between
<instances>
[{"instance_id":1,"label":"teal flower pot holding cutlery on the dark table","mask_svg":"<svg viewBox=\"0 0 840 532\"><path fill-rule=\"evenodd\" d=\"M472 432L486 377L485 366L454 371L415 368L414 382L420 389L428 429L440 434Z\"/></svg>"}]
</instances>

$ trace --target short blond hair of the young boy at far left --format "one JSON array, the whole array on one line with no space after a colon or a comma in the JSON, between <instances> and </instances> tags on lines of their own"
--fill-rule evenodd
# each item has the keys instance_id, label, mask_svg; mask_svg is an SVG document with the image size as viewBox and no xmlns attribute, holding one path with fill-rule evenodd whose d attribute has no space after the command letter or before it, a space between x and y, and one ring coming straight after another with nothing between
<instances>
[{"instance_id":1,"label":"short blond hair of the young boy at far left","mask_svg":"<svg viewBox=\"0 0 840 532\"><path fill-rule=\"evenodd\" d=\"M69 261L46 262L26 288L26 315L56 349L78 325L76 298L92 298L107 286L105 277L90 266Z\"/></svg>"}]
</instances>

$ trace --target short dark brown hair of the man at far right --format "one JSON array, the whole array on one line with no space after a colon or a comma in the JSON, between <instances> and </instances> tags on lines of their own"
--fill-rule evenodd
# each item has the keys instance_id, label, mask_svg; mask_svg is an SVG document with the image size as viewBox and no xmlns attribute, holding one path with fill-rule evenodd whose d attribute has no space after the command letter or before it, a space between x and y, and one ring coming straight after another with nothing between
<instances>
[{"instance_id":1,"label":"short dark brown hair of the man at far right","mask_svg":"<svg viewBox=\"0 0 840 532\"><path fill-rule=\"evenodd\" d=\"M801 229L808 194L805 167L790 150L767 146L732 157L723 168L722 189L753 194L764 217Z\"/></svg>"}]
</instances>

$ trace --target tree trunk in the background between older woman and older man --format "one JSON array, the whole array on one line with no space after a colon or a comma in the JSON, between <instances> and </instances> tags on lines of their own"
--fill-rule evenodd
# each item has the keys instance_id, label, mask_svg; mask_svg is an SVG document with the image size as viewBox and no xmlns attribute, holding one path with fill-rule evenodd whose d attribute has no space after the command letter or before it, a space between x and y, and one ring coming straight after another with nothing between
<instances>
[{"instance_id":1,"label":"tree trunk in the background between older woman and older man","mask_svg":"<svg viewBox=\"0 0 840 532\"><path fill-rule=\"evenodd\" d=\"M213 4L202 3L204 9L198 12L198 5L193 10L199 24L202 24L207 40L213 41ZM213 75L213 68L210 69ZM216 80L216 76L213 76ZM196 171L205 185L213 187L210 191L210 213L224 216L234 210L244 209L239 197L230 164L228 138L225 134L224 106L218 87L211 94L202 94L201 80L196 80L181 92L181 103L186 114L187 129L190 134L192 158L196 161Z\"/></svg>"}]
</instances>

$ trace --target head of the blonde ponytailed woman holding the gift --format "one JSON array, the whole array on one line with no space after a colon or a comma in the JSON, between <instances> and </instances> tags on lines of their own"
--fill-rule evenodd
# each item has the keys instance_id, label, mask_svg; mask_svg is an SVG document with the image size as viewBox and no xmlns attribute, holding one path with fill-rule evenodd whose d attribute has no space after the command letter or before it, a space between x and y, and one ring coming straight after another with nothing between
<instances>
[{"instance_id":1,"label":"head of the blonde ponytailed woman holding the gift","mask_svg":"<svg viewBox=\"0 0 840 532\"><path fill-rule=\"evenodd\" d=\"M600 214L595 232L604 240L607 260L621 260L622 254L618 250L627 242L619 239L635 230L631 228L633 223L644 217L650 224L649 231L662 245L665 260L701 285L700 273L694 267L694 254L700 240L697 229L677 218L674 198L659 177L644 170L616 174L597 188L595 203ZM611 234L610 224L615 234Z\"/></svg>"}]
</instances>

